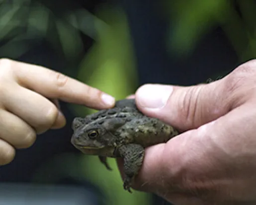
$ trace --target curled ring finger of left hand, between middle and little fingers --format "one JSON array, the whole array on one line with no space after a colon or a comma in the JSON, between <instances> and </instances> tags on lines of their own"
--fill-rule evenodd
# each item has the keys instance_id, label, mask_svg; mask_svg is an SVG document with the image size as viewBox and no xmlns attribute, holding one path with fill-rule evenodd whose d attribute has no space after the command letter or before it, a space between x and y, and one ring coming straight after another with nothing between
<instances>
[{"instance_id":1,"label":"curled ring finger of left hand, between middle and little fingers","mask_svg":"<svg viewBox=\"0 0 256 205\"><path fill-rule=\"evenodd\" d=\"M27 148L34 143L36 133L22 119L3 109L0 109L0 118L0 139L15 148Z\"/></svg>"}]
</instances>

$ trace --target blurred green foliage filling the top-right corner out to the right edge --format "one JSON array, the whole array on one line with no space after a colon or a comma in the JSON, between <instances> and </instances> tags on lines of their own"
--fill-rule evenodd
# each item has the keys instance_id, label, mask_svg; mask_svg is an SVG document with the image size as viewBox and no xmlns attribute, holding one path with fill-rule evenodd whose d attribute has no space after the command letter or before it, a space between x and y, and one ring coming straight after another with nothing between
<instances>
[{"instance_id":1,"label":"blurred green foliage filling the top-right corner out to the right edge","mask_svg":"<svg viewBox=\"0 0 256 205\"><path fill-rule=\"evenodd\" d=\"M190 55L207 33L220 27L240 61L256 56L254 0L164 0L164 5L172 19L167 34L171 55Z\"/></svg>"}]
</instances>

